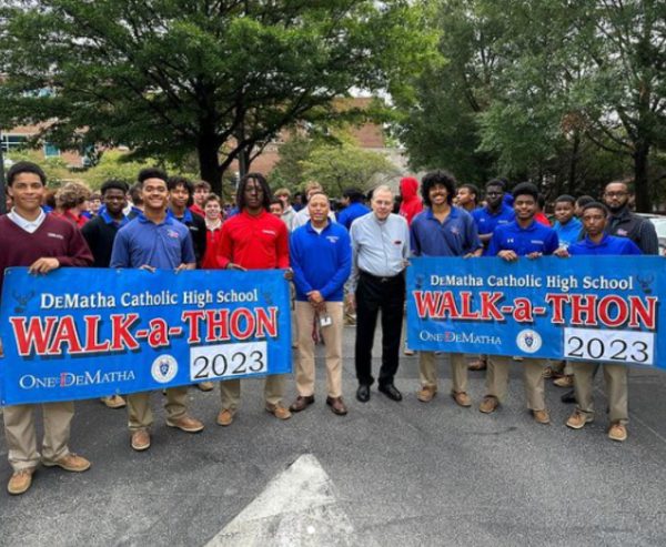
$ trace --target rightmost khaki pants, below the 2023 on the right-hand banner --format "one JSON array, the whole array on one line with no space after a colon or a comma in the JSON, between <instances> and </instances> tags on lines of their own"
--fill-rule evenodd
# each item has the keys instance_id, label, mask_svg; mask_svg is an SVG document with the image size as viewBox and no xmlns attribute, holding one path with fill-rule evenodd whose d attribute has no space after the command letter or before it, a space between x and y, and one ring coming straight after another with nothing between
<instances>
[{"instance_id":1,"label":"rightmost khaki pants, below the 2023 on the right-hand banner","mask_svg":"<svg viewBox=\"0 0 666 547\"><path fill-rule=\"evenodd\" d=\"M574 368L574 389L578 411L591 416L594 415L594 401L592 388L594 384L594 372L596 363L572 362ZM629 421L628 408L628 371L624 365L612 365L605 363L604 381L606 382L606 396L608 397L608 418L610 422L626 424Z\"/></svg>"}]
</instances>

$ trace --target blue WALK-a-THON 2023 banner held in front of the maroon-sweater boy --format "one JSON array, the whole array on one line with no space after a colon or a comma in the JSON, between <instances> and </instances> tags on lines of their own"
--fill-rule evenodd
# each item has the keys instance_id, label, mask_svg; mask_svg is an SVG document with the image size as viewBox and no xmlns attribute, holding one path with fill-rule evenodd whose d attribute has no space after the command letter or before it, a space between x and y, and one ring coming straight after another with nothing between
<instances>
[{"instance_id":1,"label":"blue WALK-a-THON 2023 banner held in front of the maroon-sweater boy","mask_svg":"<svg viewBox=\"0 0 666 547\"><path fill-rule=\"evenodd\" d=\"M292 369L282 271L4 273L0 403L145 392Z\"/></svg>"}]
</instances>

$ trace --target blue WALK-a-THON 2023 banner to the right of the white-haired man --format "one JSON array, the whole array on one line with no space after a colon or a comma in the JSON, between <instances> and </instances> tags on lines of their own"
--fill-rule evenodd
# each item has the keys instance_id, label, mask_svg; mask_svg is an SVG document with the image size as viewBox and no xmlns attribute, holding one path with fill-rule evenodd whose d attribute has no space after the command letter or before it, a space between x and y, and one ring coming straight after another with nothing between
<instances>
[{"instance_id":1,"label":"blue WALK-a-THON 2023 banner to the right of the white-haired man","mask_svg":"<svg viewBox=\"0 0 666 547\"><path fill-rule=\"evenodd\" d=\"M658 256L415 259L407 343L446 353L666 368ZM662 358L664 357L664 358Z\"/></svg>"}]
</instances>

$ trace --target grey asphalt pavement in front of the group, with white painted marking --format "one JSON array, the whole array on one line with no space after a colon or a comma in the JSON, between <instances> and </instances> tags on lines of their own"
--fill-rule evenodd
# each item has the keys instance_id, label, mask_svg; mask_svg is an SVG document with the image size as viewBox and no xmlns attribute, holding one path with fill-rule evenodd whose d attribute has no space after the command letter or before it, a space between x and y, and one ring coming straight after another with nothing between
<instances>
[{"instance_id":1,"label":"grey asphalt pavement in front of the group, with white painted marking","mask_svg":"<svg viewBox=\"0 0 666 547\"><path fill-rule=\"evenodd\" d=\"M261 379L243 381L229 427L215 425L219 392L191 389L191 413L206 426L194 435L165 426L155 393L145 453L130 447L124 409L78 403L71 448L92 468L40 468L12 497L4 464L0 545L666 545L666 373L632 369L620 444L606 437L603 379L596 419L582 430L564 425L573 405L546 381L552 424L539 425L525 408L519 363L492 415L477 411L483 372L470 373L474 406L455 405L444 355L431 403L416 399L417 358L404 356L403 402L375 385L359 403L353 337L347 327L344 417L325 405L321 359L315 404L286 422L263 409ZM294 396L290 379L287 403Z\"/></svg>"}]
</instances>

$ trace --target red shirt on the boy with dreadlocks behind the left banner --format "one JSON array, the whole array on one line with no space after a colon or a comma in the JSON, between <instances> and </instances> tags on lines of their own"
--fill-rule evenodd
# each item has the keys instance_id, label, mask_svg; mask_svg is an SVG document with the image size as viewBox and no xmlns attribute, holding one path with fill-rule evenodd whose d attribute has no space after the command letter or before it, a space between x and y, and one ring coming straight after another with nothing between
<instances>
[{"instance_id":1,"label":"red shirt on the boy with dreadlocks behind the left banner","mask_svg":"<svg viewBox=\"0 0 666 547\"><path fill-rule=\"evenodd\" d=\"M286 224L266 211L252 216L243 211L222 224L215 249L218 267L232 262L246 270L289 267Z\"/></svg>"}]
</instances>

